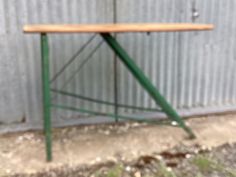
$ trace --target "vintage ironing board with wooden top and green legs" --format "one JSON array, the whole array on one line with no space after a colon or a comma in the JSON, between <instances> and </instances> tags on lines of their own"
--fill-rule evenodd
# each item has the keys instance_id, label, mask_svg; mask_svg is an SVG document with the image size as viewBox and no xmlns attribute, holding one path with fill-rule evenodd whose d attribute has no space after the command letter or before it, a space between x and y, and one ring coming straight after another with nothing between
<instances>
[{"instance_id":1,"label":"vintage ironing board with wooden top and green legs","mask_svg":"<svg viewBox=\"0 0 236 177\"><path fill-rule=\"evenodd\" d=\"M143 71L136 65L127 52L121 47L118 41L110 33L134 33L134 32L176 32L176 31L204 31L212 30L213 25L210 24L155 24L155 23L143 23L143 24L61 24L61 25L26 25L24 26L25 33L39 33L41 36L41 57L42 57L42 85L43 85L43 110L44 110L44 131L46 142L46 156L47 161L52 160L52 142L51 142L51 108L70 109L73 111L87 112L96 114L84 109L68 107L65 105L57 105L51 103L50 96L50 76L49 76L49 47L47 33L99 33L105 42L110 46L114 53L121 59L137 81L143 86L143 88L154 99L157 105L160 106L162 111L167 116L178 123L191 138L195 135L192 130L186 126L184 121L178 115L178 113L172 108L172 106L166 101L166 99L159 93L156 87L151 81L144 75ZM59 92L58 92L59 93ZM63 92L60 92L63 93ZM66 95L74 95L66 93ZM107 114L111 115L111 114ZM115 115L120 118L124 118L119 115Z\"/></svg>"}]
</instances>

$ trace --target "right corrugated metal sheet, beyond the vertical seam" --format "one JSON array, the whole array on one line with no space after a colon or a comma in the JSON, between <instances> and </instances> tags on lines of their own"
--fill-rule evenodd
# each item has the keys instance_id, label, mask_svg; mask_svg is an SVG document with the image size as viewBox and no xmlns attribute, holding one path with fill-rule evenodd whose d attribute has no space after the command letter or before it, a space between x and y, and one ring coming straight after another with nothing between
<instances>
[{"instance_id":1,"label":"right corrugated metal sheet, beyond the vertical seam","mask_svg":"<svg viewBox=\"0 0 236 177\"><path fill-rule=\"evenodd\" d=\"M234 0L120 0L118 22L213 23L216 29L118 38L178 110L235 106L235 8ZM119 95L120 102L155 107L122 64Z\"/></svg>"}]
</instances>

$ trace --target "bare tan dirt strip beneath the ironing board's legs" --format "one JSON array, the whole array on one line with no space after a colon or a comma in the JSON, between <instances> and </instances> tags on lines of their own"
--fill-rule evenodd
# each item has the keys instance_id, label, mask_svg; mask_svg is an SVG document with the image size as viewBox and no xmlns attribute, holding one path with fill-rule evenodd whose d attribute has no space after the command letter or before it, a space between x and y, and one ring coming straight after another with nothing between
<instances>
[{"instance_id":1,"label":"bare tan dirt strip beneath the ironing board's legs","mask_svg":"<svg viewBox=\"0 0 236 177\"><path fill-rule=\"evenodd\" d=\"M88 166L101 163L132 162L176 146L198 145L211 149L232 144L236 142L235 118L235 115L227 115L188 120L198 136L196 140L188 140L180 128L138 123L54 129L52 163L45 162L41 132L1 135L0 174L45 174L59 169L78 172L78 168L86 170Z\"/></svg>"}]
</instances>

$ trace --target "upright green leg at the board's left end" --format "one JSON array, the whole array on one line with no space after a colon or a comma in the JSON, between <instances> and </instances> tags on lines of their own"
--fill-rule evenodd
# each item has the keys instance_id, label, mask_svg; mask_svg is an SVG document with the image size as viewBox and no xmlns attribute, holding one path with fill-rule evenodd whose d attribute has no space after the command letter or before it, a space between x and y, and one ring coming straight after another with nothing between
<instances>
[{"instance_id":1,"label":"upright green leg at the board's left end","mask_svg":"<svg viewBox=\"0 0 236 177\"><path fill-rule=\"evenodd\" d=\"M43 116L47 161L52 160L49 47L47 34L41 34Z\"/></svg>"}]
</instances>

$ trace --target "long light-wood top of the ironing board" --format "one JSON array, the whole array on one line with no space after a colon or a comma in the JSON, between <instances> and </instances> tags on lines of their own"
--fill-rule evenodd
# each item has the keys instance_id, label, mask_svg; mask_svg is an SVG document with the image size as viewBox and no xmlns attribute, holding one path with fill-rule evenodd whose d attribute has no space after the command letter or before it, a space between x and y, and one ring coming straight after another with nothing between
<instances>
[{"instance_id":1,"label":"long light-wood top of the ironing board","mask_svg":"<svg viewBox=\"0 0 236 177\"><path fill-rule=\"evenodd\" d=\"M136 24L48 24L25 25L25 33L122 33L212 30L212 24L136 23Z\"/></svg>"}]
</instances>

